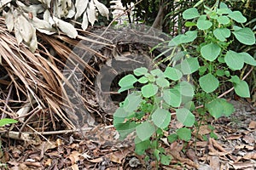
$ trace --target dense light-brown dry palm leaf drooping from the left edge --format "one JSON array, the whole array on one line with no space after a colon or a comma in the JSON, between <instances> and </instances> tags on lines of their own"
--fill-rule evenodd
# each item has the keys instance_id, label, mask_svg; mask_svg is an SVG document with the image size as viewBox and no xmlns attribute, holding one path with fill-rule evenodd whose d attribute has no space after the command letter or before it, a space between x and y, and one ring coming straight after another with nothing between
<instances>
[{"instance_id":1,"label":"dense light-brown dry palm leaf drooping from the left edge","mask_svg":"<svg viewBox=\"0 0 256 170\"><path fill-rule=\"evenodd\" d=\"M0 22L3 23L3 19ZM53 112L51 114L61 118L68 128L74 127L61 109L63 101L68 98L61 94L63 77L55 64L51 64L38 51L32 54L25 44L18 46L15 37L3 24L0 27L0 55L2 65L9 74L9 83L15 85L18 101L30 98L29 102L32 103L35 100L42 111L49 107L49 111ZM19 116L15 112L11 115L12 118ZM52 119L51 122L55 127L55 120Z\"/></svg>"}]
</instances>

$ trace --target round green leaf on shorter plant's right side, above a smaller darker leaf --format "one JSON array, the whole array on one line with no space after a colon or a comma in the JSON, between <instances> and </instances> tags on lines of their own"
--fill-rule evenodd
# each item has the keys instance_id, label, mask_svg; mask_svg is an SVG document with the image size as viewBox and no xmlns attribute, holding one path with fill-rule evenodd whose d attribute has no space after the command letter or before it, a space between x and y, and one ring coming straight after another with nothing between
<instances>
[{"instance_id":1,"label":"round green leaf on shorter plant's right side, above a smaller darker leaf","mask_svg":"<svg viewBox=\"0 0 256 170\"><path fill-rule=\"evenodd\" d=\"M192 127L195 123L195 116L186 108L176 110L177 121L186 127Z\"/></svg>"}]
</instances>

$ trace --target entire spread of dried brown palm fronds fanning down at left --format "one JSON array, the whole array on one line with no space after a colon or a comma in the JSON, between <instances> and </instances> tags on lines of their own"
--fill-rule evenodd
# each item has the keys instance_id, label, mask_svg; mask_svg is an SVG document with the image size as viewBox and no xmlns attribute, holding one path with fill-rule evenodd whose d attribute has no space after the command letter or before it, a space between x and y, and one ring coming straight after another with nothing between
<instances>
[{"instance_id":1,"label":"entire spread of dried brown palm fronds fanning down at left","mask_svg":"<svg viewBox=\"0 0 256 170\"><path fill-rule=\"evenodd\" d=\"M50 117L50 122L54 128L56 127L56 122L60 121L59 119L61 119L61 122L65 123L67 128L75 128L72 114L75 114L73 108L76 107L76 105L70 101L70 96L68 96L65 86L72 90L73 93L83 101L82 105L84 105L86 110L96 111L96 109L95 105L90 105L87 99L84 99L81 94L77 93L74 84L68 81L67 77L64 75L63 68L68 67L68 65L66 65L67 59L72 61L71 63L73 65L76 65L76 63L83 65L84 70L77 69L83 74L83 78L91 85L93 82L91 82L89 77L94 77L97 71L85 62L84 59L81 59L78 54L73 53L72 48L79 44L79 40L81 39L71 39L63 35L50 37L40 33L38 33L38 37L41 42L38 43L38 49L35 53L32 53L26 44L20 43L20 45L18 45L15 36L9 33L5 26L4 19L0 18L1 65L9 77L7 81L0 82L0 85L4 84L5 87L7 84L14 85L15 96L17 98L15 103L19 105L16 108L7 105L7 109L0 107L0 110L3 116L8 114L10 117L20 120L20 122L24 121L25 116L34 116L34 119L31 119L31 121L36 121L37 116L36 114L33 115L33 113L41 112L44 113L44 116ZM81 36L79 37L83 38ZM90 41L93 42L94 40ZM106 44L107 43L104 43L104 45ZM104 59L102 54L86 45L79 44L78 47ZM50 48L55 51L55 56L49 53ZM25 110L25 105L30 105L31 108L35 109L32 111L31 109ZM70 111L71 113L69 114L71 115L68 115L67 112ZM43 117L42 120L45 121L46 119ZM49 123L42 120L38 120L38 122L43 122L41 125ZM29 123L29 121L30 120L27 120L26 123Z\"/></svg>"}]
</instances>

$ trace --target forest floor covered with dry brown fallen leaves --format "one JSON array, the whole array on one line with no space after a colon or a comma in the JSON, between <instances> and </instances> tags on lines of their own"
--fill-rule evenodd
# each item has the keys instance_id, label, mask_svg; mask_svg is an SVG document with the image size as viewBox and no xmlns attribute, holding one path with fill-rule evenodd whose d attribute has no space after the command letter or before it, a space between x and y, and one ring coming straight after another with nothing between
<instances>
[{"instance_id":1,"label":"forest floor covered with dry brown fallen leaves","mask_svg":"<svg viewBox=\"0 0 256 170\"><path fill-rule=\"evenodd\" d=\"M250 103L231 100L236 112L230 117L209 120L214 127L202 125L195 142L166 138L160 144L172 156L170 166L159 169L229 170L256 168L256 109ZM172 129L179 123L172 119ZM210 138L211 133L215 138ZM203 138L203 136L207 137ZM119 141L113 126L98 125L90 131L45 134L31 141L2 137L1 168L25 169L157 169L157 162L147 151L149 161L134 153L132 138Z\"/></svg>"}]
</instances>

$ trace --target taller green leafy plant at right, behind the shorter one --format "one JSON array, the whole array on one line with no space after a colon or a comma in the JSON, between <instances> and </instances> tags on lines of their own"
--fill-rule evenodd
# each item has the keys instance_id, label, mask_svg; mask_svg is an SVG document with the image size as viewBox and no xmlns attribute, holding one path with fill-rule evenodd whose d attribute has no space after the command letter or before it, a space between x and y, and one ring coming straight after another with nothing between
<instances>
[{"instance_id":1,"label":"taller green leafy plant at right, behind the shorter one","mask_svg":"<svg viewBox=\"0 0 256 170\"><path fill-rule=\"evenodd\" d=\"M216 3L212 8L205 6L204 14L200 14L197 8L189 8L183 12L183 19L189 20L185 26L193 31L178 35L169 42L169 46L179 45L186 52L176 67L184 74L199 74L196 96L210 94L203 95L205 97L200 100L214 118L230 116L234 108L224 99L216 99L218 88L225 82L232 82L238 96L250 97L247 82L231 74L241 70L245 64L255 66L256 61L250 54L233 51L229 46L235 40L253 45L254 33L243 27L247 19L241 12L232 11L225 3L219 3L219 6Z\"/></svg>"}]
</instances>

